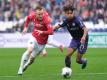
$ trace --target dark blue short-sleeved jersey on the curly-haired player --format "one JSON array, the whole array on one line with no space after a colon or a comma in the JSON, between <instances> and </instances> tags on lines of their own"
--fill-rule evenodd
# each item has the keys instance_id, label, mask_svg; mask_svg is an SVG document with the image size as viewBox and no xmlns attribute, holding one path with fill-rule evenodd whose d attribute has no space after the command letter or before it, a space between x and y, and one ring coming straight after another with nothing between
<instances>
[{"instance_id":1,"label":"dark blue short-sleeved jersey on the curly-haired player","mask_svg":"<svg viewBox=\"0 0 107 80\"><path fill-rule=\"evenodd\" d=\"M75 16L73 19L65 19L62 24L59 24L61 27L67 27L67 30L73 37L73 39L80 40L84 34L83 28L85 25L80 17Z\"/></svg>"}]
</instances>

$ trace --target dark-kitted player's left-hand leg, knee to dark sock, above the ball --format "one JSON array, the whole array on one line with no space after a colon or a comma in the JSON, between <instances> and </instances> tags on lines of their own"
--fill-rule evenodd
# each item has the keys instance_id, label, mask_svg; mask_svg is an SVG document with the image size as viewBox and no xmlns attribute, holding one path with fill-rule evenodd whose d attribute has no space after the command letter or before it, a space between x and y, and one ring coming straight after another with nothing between
<instances>
[{"instance_id":1,"label":"dark-kitted player's left-hand leg, knee to dark sock, above the ball","mask_svg":"<svg viewBox=\"0 0 107 80\"><path fill-rule=\"evenodd\" d=\"M67 49L67 55L65 57L65 65L66 67L71 67L71 56L73 55L73 53L75 52L75 49L73 48L68 48Z\"/></svg>"}]
</instances>

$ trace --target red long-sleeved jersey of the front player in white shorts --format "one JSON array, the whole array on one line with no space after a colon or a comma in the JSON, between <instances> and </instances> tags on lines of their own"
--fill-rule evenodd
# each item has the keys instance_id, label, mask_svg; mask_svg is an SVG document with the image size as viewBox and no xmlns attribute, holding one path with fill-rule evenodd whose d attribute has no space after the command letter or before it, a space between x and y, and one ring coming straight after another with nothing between
<instances>
[{"instance_id":1,"label":"red long-sleeved jersey of the front player in white shorts","mask_svg":"<svg viewBox=\"0 0 107 80\"><path fill-rule=\"evenodd\" d=\"M25 22L25 27L28 27L28 24L30 21L33 22L34 24L34 30L32 32L32 35L36 38L37 42L41 45L44 45L47 43L48 40L48 35L53 34L53 30L51 27L51 21L48 18L47 12L43 13L43 20L39 21L36 18L36 12L30 13L29 16L27 16L26 22ZM36 30L43 31L42 34L38 34Z\"/></svg>"}]
</instances>

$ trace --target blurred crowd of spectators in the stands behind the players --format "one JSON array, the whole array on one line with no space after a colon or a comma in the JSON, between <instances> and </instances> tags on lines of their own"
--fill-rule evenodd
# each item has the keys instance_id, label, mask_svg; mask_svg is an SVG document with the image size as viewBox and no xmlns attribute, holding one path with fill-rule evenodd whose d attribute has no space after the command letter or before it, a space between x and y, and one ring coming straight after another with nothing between
<instances>
[{"instance_id":1,"label":"blurred crowd of spectators in the stands behind the players","mask_svg":"<svg viewBox=\"0 0 107 80\"><path fill-rule=\"evenodd\" d=\"M72 4L76 8L75 14L84 22L107 24L107 0L0 0L0 32L21 31L26 16L37 4L46 8L53 19L52 24L63 19L65 4Z\"/></svg>"}]
</instances>

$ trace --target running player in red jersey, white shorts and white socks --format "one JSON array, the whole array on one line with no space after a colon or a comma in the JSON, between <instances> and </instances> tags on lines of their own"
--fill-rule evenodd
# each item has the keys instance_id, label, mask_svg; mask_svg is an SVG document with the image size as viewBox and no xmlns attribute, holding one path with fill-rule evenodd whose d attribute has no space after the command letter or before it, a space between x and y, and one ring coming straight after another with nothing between
<instances>
[{"instance_id":1,"label":"running player in red jersey, white shorts and white socks","mask_svg":"<svg viewBox=\"0 0 107 80\"><path fill-rule=\"evenodd\" d=\"M34 30L31 39L28 41L28 49L22 55L18 70L19 75L22 75L27 67L34 62L35 57L45 48L48 36L53 34L51 22L48 17L46 11L41 6L37 6L35 12L31 12L27 16L22 34L27 32L30 21L34 24Z\"/></svg>"}]
</instances>

